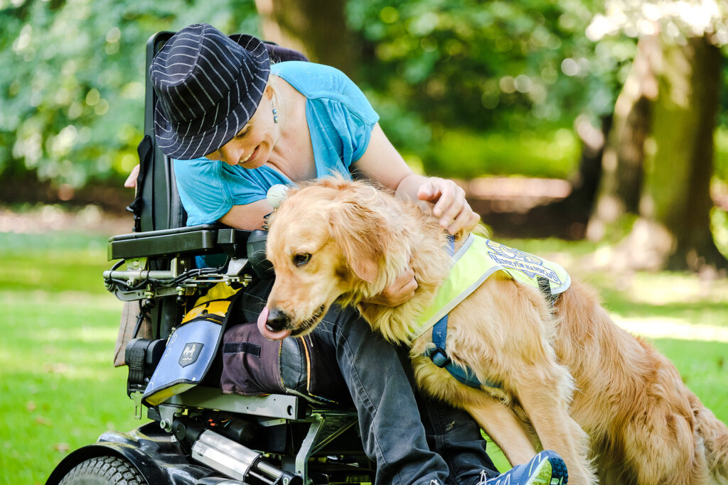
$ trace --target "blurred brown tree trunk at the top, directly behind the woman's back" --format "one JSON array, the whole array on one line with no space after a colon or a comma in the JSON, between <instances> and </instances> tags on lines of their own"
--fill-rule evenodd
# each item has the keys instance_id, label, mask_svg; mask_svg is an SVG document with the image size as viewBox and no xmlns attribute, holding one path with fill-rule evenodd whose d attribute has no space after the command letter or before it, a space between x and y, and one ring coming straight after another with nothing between
<instances>
[{"instance_id":1,"label":"blurred brown tree trunk at the top, directly behind the woman's back","mask_svg":"<svg viewBox=\"0 0 728 485\"><path fill-rule=\"evenodd\" d=\"M264 39L354 78L360 56L347 28L343 0L256 0L256 7Z\"/></svg>"}]
</instances>

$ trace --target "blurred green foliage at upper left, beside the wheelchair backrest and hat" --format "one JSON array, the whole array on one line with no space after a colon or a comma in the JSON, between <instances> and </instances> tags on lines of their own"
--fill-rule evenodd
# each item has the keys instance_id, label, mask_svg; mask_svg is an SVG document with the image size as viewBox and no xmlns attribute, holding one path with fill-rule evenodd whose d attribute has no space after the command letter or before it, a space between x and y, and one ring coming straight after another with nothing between
<instances>
[{"instance_id":1,"label":"blurred green foliage at upper left, beside the wheelchair backrest and hat","mask_svg":"<svg viewBox=\"0 0 728 485\"><path fill-rule=\"evenodd\" d=\"M195 22L257 31L253 0L0 0L0 173L80 187L128 172L146 40Z\"/></svg>"}]
</instances>

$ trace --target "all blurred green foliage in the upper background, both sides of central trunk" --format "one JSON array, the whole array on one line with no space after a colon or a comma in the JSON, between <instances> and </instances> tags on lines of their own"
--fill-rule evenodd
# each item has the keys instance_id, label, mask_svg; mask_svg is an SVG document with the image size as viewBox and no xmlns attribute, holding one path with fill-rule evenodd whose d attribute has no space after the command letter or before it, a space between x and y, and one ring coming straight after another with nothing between
<instances>
[{"instance_id":1,"label":"all blurred green foliage in the upper background, both sides of central trunk","mask_svg":"<svg viewBox=\"0 0 728 485\"><path fill-rule=\"evenodd\" d=\"M468 174L497 165L537 175L542 153L518 146L521 133L557 143L553 135L571 130L578 114L598 125L611 113L635 40L630 28L606 35L615 30L605 19L613 23L615 4L649 15L661 0L612 0L606 8L596 0L341 1L363 46L357 81L397 148L440 173L458 139L468 143L459 156L473 161ZM0 174L118 184L136 163L143 131L144 44L194 22L260 32L253 0L0 0L0 62L13 66L0 73ZM722 96L728 105L728 90ZM478 140L480 133L488 135ZM493 154L483 140L495 134L513 143L506 150L513 156L478 168Z\"/></svg>"}]
</instances>

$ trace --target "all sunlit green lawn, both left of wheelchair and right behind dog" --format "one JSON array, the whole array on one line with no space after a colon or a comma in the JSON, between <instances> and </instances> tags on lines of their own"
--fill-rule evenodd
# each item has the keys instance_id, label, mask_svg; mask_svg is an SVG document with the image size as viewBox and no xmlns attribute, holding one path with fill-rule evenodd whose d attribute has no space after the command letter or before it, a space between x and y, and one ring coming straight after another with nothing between
<instances>
[{"instance_id":1,"label":"all sunlit green lawn, both left of wheelchair and right behind dog","mask_svg":"<svg viewBox=\"0 0 728 485\"><path fill-rule=\"evenodd\" d=\"M558 240L504 241L577 268L598 249ZM73 449L130 430L126 369L111 366L121 302L101 273L106 236L0 233L0 484L41 484ZM644 329L706 406L728 422L728 282L679 273L587 273L612 315ZM667 322L667 323L665 323ZM708 329L679 337L654 329Z\"/></svg>"}]
</instances>

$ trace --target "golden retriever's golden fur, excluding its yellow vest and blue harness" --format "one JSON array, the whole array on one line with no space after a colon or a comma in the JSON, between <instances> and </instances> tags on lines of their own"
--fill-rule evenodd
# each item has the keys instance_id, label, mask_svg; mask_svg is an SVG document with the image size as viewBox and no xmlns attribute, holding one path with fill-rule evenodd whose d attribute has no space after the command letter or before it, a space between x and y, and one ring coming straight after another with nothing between
<instances>
[{"instance_id":1,"label":"golden retriever's golden fur, excluding its yellow vest and blue harness","mask_svg":"<svg viewBox=\"0 0 728 485\"><path fill-rule=\"evenodd\" d=\"M411 345L418 385L470 412L512 463L543 448L561 454L571 484L728 483L726 426L584 284L552 309L496 272L451 311L448 355L502 388L469 388L422 356L430 332L412 341L408 328L447 276L445 237L427 210L371 185L335 178L293 190L267 241L269 318L304 334L334 302L357 305L373 329ZM410 301L366 302L407 265L419 284Z\"/></svg>"}]
</instances>

